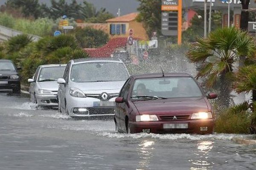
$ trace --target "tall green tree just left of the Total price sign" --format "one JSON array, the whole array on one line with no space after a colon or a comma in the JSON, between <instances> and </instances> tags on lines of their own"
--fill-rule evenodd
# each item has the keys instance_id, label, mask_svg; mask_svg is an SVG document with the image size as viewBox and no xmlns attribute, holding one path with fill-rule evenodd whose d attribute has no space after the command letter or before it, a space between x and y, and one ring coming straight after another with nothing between
<instances>
[{"instance_id":1,"label":"tall green tree just left of the Total price sign","mask_svg":"<svg viewBox=\"0 0 256 170\"><path fill-rule=\"evenodd\" d=\"M138 0L140 12L137 20L143 22L148 37L152 36L152 31L160 34L161 29L161 1L160 0Z\"/></svg>"}]
</instances>

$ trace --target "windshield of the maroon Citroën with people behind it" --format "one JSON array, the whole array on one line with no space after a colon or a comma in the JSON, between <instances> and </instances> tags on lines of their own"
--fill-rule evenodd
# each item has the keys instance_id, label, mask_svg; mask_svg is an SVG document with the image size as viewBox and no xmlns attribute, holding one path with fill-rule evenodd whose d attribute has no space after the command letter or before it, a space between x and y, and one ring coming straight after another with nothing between
<instances>
[{"instance_id":1,"label":"windshield of the maroon Citro\u00ebn with people behind it","mask_svg":"<svg viewBox=\"0 0 256 170\"><path fill-rule=\"evenodd\" d=\"M132 98L159 97L183 98L201 97L202 92L192 77L160 77L136 79Z\"/></svg>"}]
</instances>

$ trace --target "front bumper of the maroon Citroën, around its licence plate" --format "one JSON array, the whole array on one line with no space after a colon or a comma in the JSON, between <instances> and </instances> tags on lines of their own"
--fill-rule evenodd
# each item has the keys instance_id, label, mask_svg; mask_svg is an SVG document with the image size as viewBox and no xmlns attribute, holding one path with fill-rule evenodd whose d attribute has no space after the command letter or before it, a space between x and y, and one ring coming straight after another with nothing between
<instances>
[{"instance_id":1,"label":"front bumper of the maroon Citro\u00ebn, around its licence plate","mask_svg":"<svg viewBox=\"0 0 256 170\"><path fill-rule=\"evenodd\" d=\"M188 124L188 128L166 129L164 124ZM157 121L157 122L129 122L131 133L141 133L148 131L150 133L196 133L212 134L214 129L214 119L207 120L187 120L187 121ZM207 130L206 128L207 127Z\"/></svg>"}]
</instances>

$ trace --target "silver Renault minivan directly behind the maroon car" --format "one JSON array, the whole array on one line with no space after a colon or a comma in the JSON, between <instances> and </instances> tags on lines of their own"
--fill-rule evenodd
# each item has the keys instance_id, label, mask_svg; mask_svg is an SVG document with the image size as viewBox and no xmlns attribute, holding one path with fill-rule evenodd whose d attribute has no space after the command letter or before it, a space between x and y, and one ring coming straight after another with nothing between
<instances>
[{"instance_id":1,"label":"silver Renault minivan directly behind the maroon car","mask_svg":"<svg viewBox=\"0 0 256 170\"><path fill-rule=\"evenodd\" d=\"M129 74L120 59L75 59L58 79L59 111L71 117L113 116Z\"/></svg>"}]
</instances>

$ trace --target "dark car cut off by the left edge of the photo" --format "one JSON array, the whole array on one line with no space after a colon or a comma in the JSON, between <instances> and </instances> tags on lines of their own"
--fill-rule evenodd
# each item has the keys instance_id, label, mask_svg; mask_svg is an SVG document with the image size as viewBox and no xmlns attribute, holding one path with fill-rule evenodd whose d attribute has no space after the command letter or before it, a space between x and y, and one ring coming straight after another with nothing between
<instances>
[{"instance_id":1,"label":"dark car cut off by the left edge of the photo","mask_svg":"<svg viewBox=\"0 0 256 170\"><path fill-rule=\"evenodd\" d=\"M11 60L0 59L0 90L20 94L20 76Z\"/></svg>"}]
</instances>

